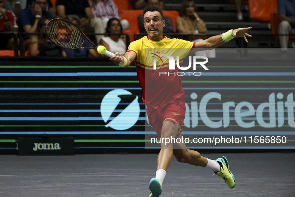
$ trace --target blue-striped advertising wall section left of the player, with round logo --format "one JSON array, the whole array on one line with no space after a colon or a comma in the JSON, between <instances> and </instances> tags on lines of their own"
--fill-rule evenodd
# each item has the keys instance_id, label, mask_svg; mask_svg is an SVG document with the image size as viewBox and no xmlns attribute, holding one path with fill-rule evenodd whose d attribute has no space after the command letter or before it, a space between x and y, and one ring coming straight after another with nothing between
<instances>
[{"instance_id":1,"label":"blue-striped advertising wall section left of the player, with round logo","mask_svg":"<svg viewBox=\"0 0 295 197\"><path fill-rule=\"evenodd\" d=\"M40 134L74 137L76 153L144 149L145 105L135 66L99 60L2 62L0 153L15 153L17 137ZM121 101L108 99L114 90ZM110 103L113 111L101 111Z\"/></svg>"}]
</instances>

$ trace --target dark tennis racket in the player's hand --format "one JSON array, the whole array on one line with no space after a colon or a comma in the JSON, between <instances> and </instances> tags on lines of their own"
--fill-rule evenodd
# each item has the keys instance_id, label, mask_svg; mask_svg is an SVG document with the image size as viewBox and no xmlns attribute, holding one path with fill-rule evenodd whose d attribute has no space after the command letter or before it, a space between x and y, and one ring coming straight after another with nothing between
<instances>
[{"instance_id":1,"label":"dark tennis racket in the player's hand","mask_svg":"<svg viewBox=\"0 0 295 197\"><path fill-rule=\"evenodd\" d=\"M65 19L52 19L46 25L46 34L51 42L65 49L92 48L97 50L97 46L88 39L82 30L72 22ZM93 47L83 47L85 38ZM112 57L115 54L106 51L105 55Z\"/></svg>"}]
</instances>

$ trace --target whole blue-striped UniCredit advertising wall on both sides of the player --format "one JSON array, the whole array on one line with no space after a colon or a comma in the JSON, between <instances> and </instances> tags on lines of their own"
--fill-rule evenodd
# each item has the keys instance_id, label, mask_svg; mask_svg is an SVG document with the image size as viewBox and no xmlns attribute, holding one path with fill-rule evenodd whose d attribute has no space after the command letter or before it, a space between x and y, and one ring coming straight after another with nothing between
<instances>
[{"instance_id":1,"label":"whole blue-striped UniCredit advertising wall on both sides of the player","mask_svg":"<svg viewBox=\"0 0 295 197\"><path fill-rule=\"evenodd\" d=\"M182 135L280 135L287 143L191 148L294 149L294 64L210 61L210 72L198 80L183 78ZM16 153L18 137L44 133L74 137L76 153L146 152L145 131L153 131L145 123L135 65L122 69L103 58L6 59L0 69L1 154Z\"/></svg>"}]
</instances>

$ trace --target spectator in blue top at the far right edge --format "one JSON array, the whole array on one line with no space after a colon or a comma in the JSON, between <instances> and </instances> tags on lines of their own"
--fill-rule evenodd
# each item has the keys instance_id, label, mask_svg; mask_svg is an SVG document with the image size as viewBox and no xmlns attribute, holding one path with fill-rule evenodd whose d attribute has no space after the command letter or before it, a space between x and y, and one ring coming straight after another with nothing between
<instances>
[{"instance_id":1,"label":"spectator in blue top at the far right edge","mask_svg":"<svg viewBox=\"0 0 295 197\"><path fill-rule=\"evenodd\" d=\"M295 34L295 1L278 0L278 34L282 51L287 51L289 34Z\"/></svg>"}]
</instances>

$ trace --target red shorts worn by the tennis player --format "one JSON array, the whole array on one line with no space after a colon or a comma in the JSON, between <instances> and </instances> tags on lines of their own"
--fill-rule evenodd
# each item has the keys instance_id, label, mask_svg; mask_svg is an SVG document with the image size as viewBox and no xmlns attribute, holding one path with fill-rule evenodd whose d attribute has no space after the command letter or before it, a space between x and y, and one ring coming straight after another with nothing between
<instances>
[{"instance_id":1,"label":"red shorts worn by the tennis player","mask_svg":"<svg viewBox=\"0 0 295 197\"><path fill-rule=\"evenodd\" d=\"M165 121L179 123L178 133L176 138L182 132L183 120L185 117L185 103L183 99L177 99L173 103L164 103L158 109L153 109L147 106L146 112L149 119L149 124L153 127L159 137L161 137L162 126Z\"/></svg>"}]
</instances>

